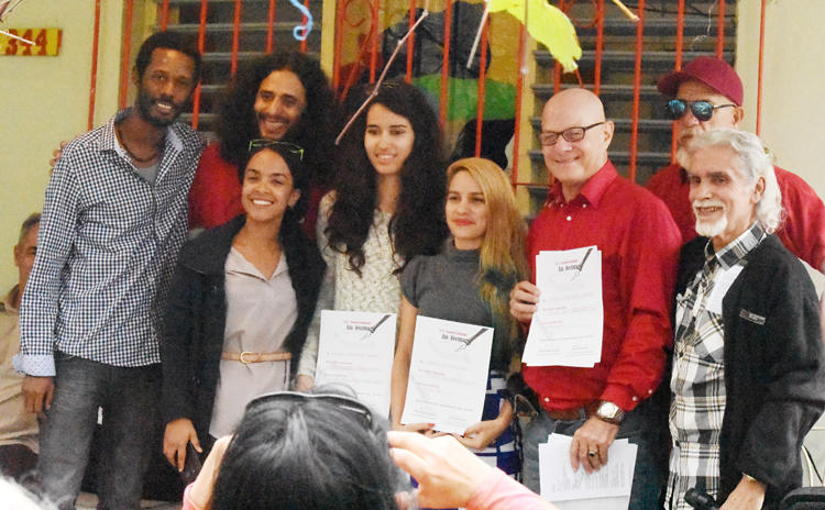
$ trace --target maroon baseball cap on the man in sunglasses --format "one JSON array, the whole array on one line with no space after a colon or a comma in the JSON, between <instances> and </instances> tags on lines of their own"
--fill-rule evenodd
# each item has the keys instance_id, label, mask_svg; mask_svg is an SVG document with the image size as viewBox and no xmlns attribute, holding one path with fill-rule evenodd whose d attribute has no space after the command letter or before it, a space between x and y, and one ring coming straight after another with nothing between
<instances>
[{"instance_id":1,"label":"maroon baseball cap on the man in sunglasses","mask_svg":"<svg viewBox=\"0 0 825 510\"><path fill-rule=\"evenodd\" d=\"M682 67L682 70L674 70L660 79L657 87L664 96L675 98L679 86L689 80L705 84L741 107L741 80L725 60L712 56L696 57Z\"/></svg>"}]
</instances>

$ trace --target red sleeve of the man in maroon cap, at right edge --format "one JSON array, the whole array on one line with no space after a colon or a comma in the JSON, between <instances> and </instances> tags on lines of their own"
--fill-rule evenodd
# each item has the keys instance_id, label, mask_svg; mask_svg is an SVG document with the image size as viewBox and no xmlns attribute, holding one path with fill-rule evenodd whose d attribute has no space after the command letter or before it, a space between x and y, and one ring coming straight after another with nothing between
<instances>
[{"instance_id":1,"label":"red sleeve of the man in maroon cap, at right edge","mask_svg":"<svg viewBox=\"0 0 825 510\"><path fill-rule=\"evenodd\" d=\"M791 253L825 273L825 206L801 177L779 167L774 170L785 213L777 236Z\"/></svg>"}]
</instances>

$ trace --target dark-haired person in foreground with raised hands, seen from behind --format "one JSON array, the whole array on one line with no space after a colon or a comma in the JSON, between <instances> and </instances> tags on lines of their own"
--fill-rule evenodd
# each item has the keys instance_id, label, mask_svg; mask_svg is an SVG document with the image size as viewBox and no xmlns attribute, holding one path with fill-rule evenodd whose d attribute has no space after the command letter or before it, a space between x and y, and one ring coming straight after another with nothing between
<instances>
[{"instance_id":1,"label":"dark-haired person in foreground with raised hands, seen from behind","mask_svg":"<svg viewBox=\"0 0 825 510\"><path fill-rule=\"evenodd\" d=\"M387 446L389 443L389 447ZM403 468L418 481L409 492ZM386 432L364 404L338 392L278 391L246 406L219 439L183 510L554 510L452 436Z\"/></svg>"}]
</instances>

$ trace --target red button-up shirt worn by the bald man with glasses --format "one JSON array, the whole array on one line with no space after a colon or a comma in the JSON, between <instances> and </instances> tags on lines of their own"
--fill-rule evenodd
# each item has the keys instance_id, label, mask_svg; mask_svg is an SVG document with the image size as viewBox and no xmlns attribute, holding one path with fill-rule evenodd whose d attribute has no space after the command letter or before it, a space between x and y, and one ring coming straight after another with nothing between
<instances>
[{"instance_id":1,"label":"red button-up shirt worn by the bald man with glasses","mask_svg":"<svg viewBox=\"0 0 825 510\"><path fill-rule=\"evenodd\" d=\"M557 185L530 228L527 252L596 245L602 251L604 333L593 368L522 367L547 410L608 400L626 411L662 378L681 236L667 207L607 162L566 202Z\"/></svg>"}]
</instances>

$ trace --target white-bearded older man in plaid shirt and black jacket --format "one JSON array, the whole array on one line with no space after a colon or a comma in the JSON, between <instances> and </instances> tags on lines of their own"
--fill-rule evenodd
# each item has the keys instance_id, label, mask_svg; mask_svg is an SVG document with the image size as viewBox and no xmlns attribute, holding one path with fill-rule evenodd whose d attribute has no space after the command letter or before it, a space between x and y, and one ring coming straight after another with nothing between
<instances>
[{"instance_id":1,"label":"white-bearded older man in plaid shirt and black jacket","mask_svg":"<svg viewBox=\"0 0 825 510\"><path fill-rule=\"evenodd\" d=\"M696 237L680 260L666 507L696 487L723 510L776 508L825 409L816 295L773 235L781 193L750 133L703 133L679 154Z\"/></svg>"}]
</instances>

